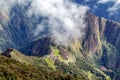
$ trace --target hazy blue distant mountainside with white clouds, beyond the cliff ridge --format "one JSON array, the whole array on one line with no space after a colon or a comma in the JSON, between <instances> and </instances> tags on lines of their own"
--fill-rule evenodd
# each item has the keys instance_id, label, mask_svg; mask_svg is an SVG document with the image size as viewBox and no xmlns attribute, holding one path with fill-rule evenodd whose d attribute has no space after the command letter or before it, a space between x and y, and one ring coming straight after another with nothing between
<instances>
[{"instance_id":1,"label":"hazy blue distant mountainside with white clouds, beyond the cliff ridge","mask_svg":"<svg viewBox=\"0 0 120 80\"><path fill-rule=\"evenodd\" d=\"M119 1L116 0L75 0L75 2L86 5L90 12L109 20L120 22ZM118 3L117 3L118 2Z\"/></svg>"}]
</instances>

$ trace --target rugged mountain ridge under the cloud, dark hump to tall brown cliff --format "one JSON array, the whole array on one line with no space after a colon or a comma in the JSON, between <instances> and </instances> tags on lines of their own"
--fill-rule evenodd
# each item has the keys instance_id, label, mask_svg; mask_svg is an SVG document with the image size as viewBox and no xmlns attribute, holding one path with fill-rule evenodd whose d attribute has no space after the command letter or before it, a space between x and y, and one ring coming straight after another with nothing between
<instances>
[{"instance_id":1,"label":"rugged mountain ridge under the cloud, dark hump to tall brown cliff","mask_svg":"<svg viewBox=\"0 0 120 80\"><path fill-rule=\"evenodd\" d=\"M86 34L83 39L73 40L70 44L71 46L67 48L56 45L53 39L44 36L28 43L20 51L29 56L42 57L50 54L50 58L53 59L53 54L57 49L59 50L59 56L65 62L76 62L77 57L97 66L103 71L107 71L107 73L118 73L120 65L118 61L120 52L120 24L96 17L90 13L87 13L86 21L88 26L85 29ZM55 51L52 47L55 47ZM113 78L115 80L119 79L118 76Z\"/></svg>"}]
</instances>

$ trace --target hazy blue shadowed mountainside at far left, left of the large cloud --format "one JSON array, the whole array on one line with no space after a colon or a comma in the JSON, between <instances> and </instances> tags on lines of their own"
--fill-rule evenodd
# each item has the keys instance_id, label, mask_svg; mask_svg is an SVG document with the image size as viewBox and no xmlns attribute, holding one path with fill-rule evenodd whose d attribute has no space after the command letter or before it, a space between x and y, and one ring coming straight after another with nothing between
<instances>
[{"instance_id":1,"label":"hazy blue shadowed mountainside at far left, left of the large cloud","mask_svg":"<svg viewBox=\"0 0 120 80\"><path fill-rule=\"evenodd\" d=\"M1 50L20 48L33 39L34 24L25 14L25 7L16 5L10 14L0 12L0 27Z\"/></svg>"}]
</instances>

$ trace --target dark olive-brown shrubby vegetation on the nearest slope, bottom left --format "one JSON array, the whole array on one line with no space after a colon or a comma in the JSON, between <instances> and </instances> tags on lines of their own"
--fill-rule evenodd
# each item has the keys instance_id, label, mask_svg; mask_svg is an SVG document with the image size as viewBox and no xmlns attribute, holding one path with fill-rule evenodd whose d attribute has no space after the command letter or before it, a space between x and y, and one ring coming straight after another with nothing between
<instances>
[{"instance_id":1,"label":"dark olive-brown shrubby vegetation on the nearest slope, bottom left","mask_svg":"<svg viewBox=\"0 0 120 80\"><path fill-rule=\"evenodd\" d=\"M0 80L82 80L46 67L22 64L0 56Z\"/></svg>"}]
</instances>

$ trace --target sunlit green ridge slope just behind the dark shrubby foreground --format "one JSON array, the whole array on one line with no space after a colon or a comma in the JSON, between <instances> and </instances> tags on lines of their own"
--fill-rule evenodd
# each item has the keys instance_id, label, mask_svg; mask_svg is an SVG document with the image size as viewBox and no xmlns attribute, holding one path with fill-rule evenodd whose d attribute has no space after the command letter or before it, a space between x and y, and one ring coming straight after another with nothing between
<instances>
[{"instance_id":1,"label":"sunlit green ridge slope just behind the dark shrubby foreground","mask_svg":"<svg viewBox=\"0 0 120 80\"><path fill-rule=\"evenodd\" d=\"M55 54L58 54L58 52L57 53L55 52ZM51 69L51 71L59 70L60 72L69 74L74 78L77 77L78 80L79 79L110 80L110 77L107 76L104 72L81 59L76 60L76 62L66 63L64 62L62 57L61 59L54 60L49 56L45 57L25 56L24 54L20 53L15 49L7 49L7 51L3 52L2 55L20 61L21 63Z\"/></svg>"}]
</instances>

